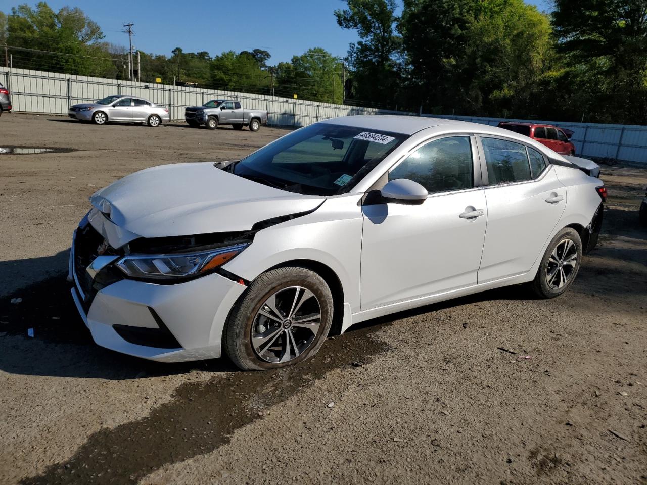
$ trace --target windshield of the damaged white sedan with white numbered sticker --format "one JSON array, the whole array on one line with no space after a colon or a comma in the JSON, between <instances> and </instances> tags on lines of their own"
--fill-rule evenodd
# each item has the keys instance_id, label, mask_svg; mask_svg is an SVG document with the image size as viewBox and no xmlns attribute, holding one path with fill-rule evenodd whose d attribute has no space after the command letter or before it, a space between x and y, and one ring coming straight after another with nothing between
<instances>
[{"instance_id":1,"label":"windshield of the damaged white sedan with white numbered sticker","mask_svg":"<svg viewBox=\"0 0 647 485\"><path fill-rule=\"evenodd\" d=\"M408 135L328 123L283 136L228 169L240 177L309 195L350 191Z\"/></svg>"}]
</instances>

